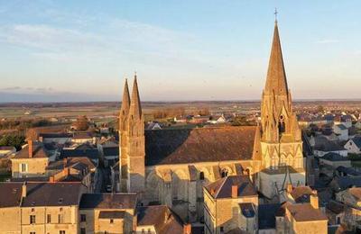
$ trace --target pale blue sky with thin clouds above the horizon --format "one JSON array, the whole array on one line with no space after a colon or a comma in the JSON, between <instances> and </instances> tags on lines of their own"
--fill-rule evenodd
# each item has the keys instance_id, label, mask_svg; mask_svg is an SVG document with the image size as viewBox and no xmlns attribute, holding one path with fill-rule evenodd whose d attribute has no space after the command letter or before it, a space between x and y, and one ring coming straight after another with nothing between
<instances>
[{"instance_id":1,"label":"pale blue sky with thin clouds above the horizon","mask_svg":"<svg viewBox=\"0 0 361 234\"><path fill-rule=\"evenodd\" d=\"M259 100L275 7L293 99L360 99L361 1L0 0L0 102Z\"/></svg>"}]
</instances>

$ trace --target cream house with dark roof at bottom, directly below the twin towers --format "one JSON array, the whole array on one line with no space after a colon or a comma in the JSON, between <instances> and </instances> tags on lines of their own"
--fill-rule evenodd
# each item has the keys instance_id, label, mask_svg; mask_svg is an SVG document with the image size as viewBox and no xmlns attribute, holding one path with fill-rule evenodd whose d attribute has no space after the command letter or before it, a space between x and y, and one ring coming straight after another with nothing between
<instances>
[{"instance_id":1,"label":"cream house with dark roof at bottom, directly below the twin towers","mask_svg":"<svg viewBox=\"0 0 361 234\"><path fill-rule=\"evenodd\" d=\"M133 233L136 204L136 193L83 194L79 204L80 234Z\"/></svg>"}]
</instances>

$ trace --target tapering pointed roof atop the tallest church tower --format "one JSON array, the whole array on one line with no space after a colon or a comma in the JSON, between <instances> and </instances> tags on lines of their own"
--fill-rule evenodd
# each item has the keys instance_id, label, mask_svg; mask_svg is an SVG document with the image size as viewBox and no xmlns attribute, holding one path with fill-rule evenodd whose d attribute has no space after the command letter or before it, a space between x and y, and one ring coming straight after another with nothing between
<instances>
[{"instance_id":1,"label":"tapering pointed roof atop the tallest church tower","mask_svg":"<svg viewBox=\"0 0 361 234\"><path fill-rule=\"evenodd\" d=\"M286 72L284 71L280 35L277 21L274 23L273 42L264 94L288 94Z\"/></svg>"}]
</instances>

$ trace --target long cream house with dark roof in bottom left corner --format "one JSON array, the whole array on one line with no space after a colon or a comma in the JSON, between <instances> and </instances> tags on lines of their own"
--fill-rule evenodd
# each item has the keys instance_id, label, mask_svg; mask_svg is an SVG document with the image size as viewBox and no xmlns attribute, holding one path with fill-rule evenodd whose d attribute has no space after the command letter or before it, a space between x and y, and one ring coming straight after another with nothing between
<instances>
[{"instance_id":1,"label":"long cream house with dark roof in bottom left corner","mask_svg":"<svg viewBox=\"0 0 361 234\"><path fill-rule=\"evenodd\" d=\"M0 233L78 233L81 183L0 183Z\"/></svg>"}]
</instances>

